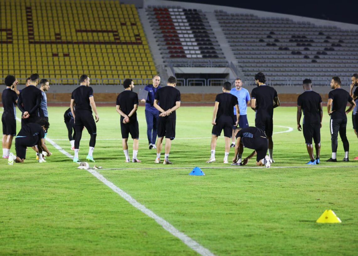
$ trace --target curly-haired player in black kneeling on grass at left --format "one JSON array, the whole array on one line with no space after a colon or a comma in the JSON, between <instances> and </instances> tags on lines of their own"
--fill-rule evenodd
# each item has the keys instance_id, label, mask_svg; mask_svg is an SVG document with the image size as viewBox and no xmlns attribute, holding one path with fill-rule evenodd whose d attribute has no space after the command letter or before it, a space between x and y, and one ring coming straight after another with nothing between
<instances>
[{"instance_id":1,"label":"curly-haired player in black kneeling on grass at left","mask_svg":"<svg viewBox=\"0 0 358 256\"><path fill-rule=\"evenodd\" d=\"M16 156L14 156L14 161L16 163L23 163L26 157L26 148L37 145L39 150L39 163L46 162L43 159L42 152L46 152L47 156L52 155L48 151L45 145L45 131L48 130L50 126L49 122L46 119L39 119L36 123L24 124L19 134L15 137L15 150Z\"/></svg>"}]
</instances>

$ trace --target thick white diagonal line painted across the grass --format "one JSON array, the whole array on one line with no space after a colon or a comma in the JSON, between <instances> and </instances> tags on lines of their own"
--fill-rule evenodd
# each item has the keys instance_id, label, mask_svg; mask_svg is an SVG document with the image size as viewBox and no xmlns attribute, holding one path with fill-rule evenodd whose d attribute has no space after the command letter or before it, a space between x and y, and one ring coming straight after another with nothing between
<instances>
[{"instance_id":1,"label":"thick white diagonal line painted across the grass","mask_svg":"<svg viewBox=\"0 0 358 256\"><path fill-rule=\"evenodd\" d=\"M16 117L16 120L21 122L21 119ZM59 145L54 143L53 140L46 138L46 140L54 146L55 149L59 150L62 154L66 155L68 158L73 159L73 156L69 154L66 150L61 148ZM196 251L200 255L203 256L215 256L214 253L209 251L207 248L200 245L200 243L196 242L189 236L185 235L183 232L180 232L177 230L172 224L170 224L165 219L159 217L154 212L150 211L148 208L146 208L143 204L140 204L137 202L133 197L131 197L129 194L124 192L122 189L118 188L115 184L108 181L103 175L96 172L95 170L87 170L89 173L91 173L93 176L95 176L97 179L99 179L102 183L107 185L110 189L112 189L114 192L116 192L118 195L120 195L123 199L125 199L127 202L129 202L132 206L137 208L142 213L146 214L148 217L153 218L161 227L163 227L166 231L168 231L171 235L178 237L183 243L185 243L189 248Z\"/></svg>"}]
</instances>

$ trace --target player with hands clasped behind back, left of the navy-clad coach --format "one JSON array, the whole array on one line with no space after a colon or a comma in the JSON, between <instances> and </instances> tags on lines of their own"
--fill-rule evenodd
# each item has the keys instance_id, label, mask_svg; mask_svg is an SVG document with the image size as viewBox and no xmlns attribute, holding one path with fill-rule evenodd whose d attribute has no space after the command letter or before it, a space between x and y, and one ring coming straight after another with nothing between
<instances>
[{"instance_id":1,"label":"player with hands clasped behind back, left of the navy-clad coach","mask_svg":"<svg viewBox=\"0 0 358 256\"><path fill-rule=\"evenodd\" d=\"M121 115L121 132L122 132L122 147L124 155L126 156L126 162L129 163L128 154L128 135L131 134L133 139L133 163L139 163L137 159L138 147L139 147L139 126L137 120L137 108L138 108L138 95L133 91L134 84L132 79L125 79L124 91L117 96L116 110Z\"/></svg>"}]
</instances>

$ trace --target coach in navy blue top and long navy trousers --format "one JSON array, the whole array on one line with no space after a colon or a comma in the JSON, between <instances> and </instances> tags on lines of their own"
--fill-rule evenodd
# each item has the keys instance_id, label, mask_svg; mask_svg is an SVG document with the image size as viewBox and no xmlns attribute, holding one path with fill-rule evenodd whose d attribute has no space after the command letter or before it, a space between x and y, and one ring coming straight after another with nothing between
<instances>
[{"instance_id":1,"label":"coach in navy blue top and long navy trousers","mask_svg":"<svg viewBox=\"0 0 358 256\"><path fill-rule=\"evenodd\" d=\"M159 84L160 77L156 75L153 77L153 84L148 84L146 87L144 87L144 90L148 91L147 99L141 99L141 102L145 102L145 120L147 121L147 137L149 149L156 149L155 140L157 136L159 111L153 106L153 104L155 93L160 88Z\"/></svg>"}]
</instances>

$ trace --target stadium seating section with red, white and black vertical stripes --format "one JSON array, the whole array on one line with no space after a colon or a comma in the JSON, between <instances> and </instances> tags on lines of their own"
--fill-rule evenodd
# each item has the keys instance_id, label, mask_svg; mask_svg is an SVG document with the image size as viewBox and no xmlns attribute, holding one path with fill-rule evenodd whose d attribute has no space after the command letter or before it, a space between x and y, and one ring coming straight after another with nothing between
<instances>
[{"instance_id":1,"label":"stadium seating section with red, white and black vertical stripes","mask_svg":"<svg viewBox=\"0 0 358 256\"><path fill-rule=\"evenodd\" d=\"M165 63L176 67L228 65L202 11L180 6L148 6L146 12Z\"/></svg>"}]
</instances>

